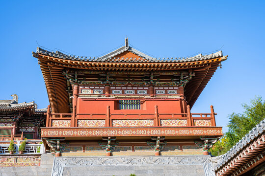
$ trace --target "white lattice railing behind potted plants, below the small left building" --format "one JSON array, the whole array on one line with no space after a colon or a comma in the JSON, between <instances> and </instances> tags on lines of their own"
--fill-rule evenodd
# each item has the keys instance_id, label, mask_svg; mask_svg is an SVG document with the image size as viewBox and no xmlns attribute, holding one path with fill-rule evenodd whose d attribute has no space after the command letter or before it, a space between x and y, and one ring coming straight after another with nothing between
<instances>
[{"instance_id":1,"label":"white lattice railing behind potted plants, below the small left building","mask_svg":"<svg viewBox=\"0 0 265 176\"><path fill-rule=\"evenodd\" d=\"M9 154L8 147L10 141L0 142L0 155ZM14 154L18 154L19 146L23 141L14 141L15 151ZM27 140L25 151L23 154L44 154L44 145L41 140Z\"/></svg>"}]
</instances>

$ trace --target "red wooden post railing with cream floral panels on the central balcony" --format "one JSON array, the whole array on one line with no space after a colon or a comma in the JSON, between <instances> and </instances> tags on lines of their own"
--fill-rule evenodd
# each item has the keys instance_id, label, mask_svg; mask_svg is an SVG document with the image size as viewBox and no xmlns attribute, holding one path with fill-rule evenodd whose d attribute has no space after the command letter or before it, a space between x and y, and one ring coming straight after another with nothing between
<instances>
[{"instance_id":1,"label":"red wooden post railing with cream floral panels on the central balcony","mask_svg":"<svg viewBox=\"0 0 265 176\"><path fill-rule=\"evenodd\" d=\"M51 113L49 109L46 127L141 127L139 122L147 123L148 127L216 126L216 113L212 106L211 113L190 113L189 106L187 106L187 113L158 113L157 105L154 107L154 113L110 113L109 108L109 106L106 107L106 113L77 113L75 115ZM126 123L129 120L132 124Z\"/></svg>"}]
</instances>

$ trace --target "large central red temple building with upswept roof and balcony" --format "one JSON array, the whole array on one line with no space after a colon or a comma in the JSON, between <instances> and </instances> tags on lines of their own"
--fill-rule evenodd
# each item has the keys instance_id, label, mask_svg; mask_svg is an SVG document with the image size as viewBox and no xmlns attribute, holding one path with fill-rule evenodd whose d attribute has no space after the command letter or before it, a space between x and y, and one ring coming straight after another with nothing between
<instances>
[{"instance_id":1,"label":"large central red temple building with upswept roof and balcony","mask_svg":"<svg viewBox=\"0 0 265 176\"><path fill-rule=\"evenodd\" d=\"M50 101L41 137L56 156L208 154L222 136L212 106L190 112L227 59L222 51L153 58L127 38L97 58L39 47L32 53Z\"/></svg>"}]
</instances>

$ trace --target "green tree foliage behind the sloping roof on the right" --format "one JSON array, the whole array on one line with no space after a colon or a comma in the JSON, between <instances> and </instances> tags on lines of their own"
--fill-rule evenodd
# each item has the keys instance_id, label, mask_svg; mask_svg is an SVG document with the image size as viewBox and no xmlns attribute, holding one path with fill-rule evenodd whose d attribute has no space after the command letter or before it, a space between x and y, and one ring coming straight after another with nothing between
<instances>
[{"instance_id":1,"label":"green tree foliage behind the sloping roof on the right","mask_svg":"<svg viewBox=\"0 0 265 176\"><path fill-rule=\"evenodd\" d=\"M242 107L244 108L243 113L233 112L228 115L228 132L210 149L212 155L225 154L252 128L265 119L265 101L262 100L262 97L257 96L251 100L250 105L243 103Z\"/></svg>"}]
</instances>

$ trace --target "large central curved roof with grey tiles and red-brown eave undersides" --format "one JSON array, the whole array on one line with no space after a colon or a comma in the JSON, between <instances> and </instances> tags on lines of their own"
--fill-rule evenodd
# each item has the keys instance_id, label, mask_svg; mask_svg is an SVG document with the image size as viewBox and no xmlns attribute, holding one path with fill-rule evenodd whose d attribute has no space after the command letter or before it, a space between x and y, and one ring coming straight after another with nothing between
<instances>
[{"instance_id":1,"label":"large central curved roof with grey tiles and red-brown eave undersides","mask_svg":"<svg viewBox=\"0 0 265 176\"><path fill-rule=\"evenodd\" d=\"M132 48L128 43L97 58L67 55L40 47L37 47L37 51L32 52L32 55L38 58L53 113L70 112L67 81L62 75L64 69L146 72L192 70L195 76L185 86L186 100L192 107L220 62L227 59L222 51L188 58L153 58Z\"/></svg>"}]
</instances>

